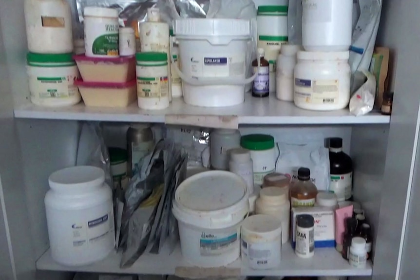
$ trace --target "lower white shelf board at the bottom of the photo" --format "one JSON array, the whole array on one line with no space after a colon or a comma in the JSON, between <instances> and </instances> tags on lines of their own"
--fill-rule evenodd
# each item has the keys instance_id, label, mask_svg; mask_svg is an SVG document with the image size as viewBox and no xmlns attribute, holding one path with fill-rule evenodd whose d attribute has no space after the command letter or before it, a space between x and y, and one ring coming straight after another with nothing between
<instances>
[{"instance_id":1,"label":"lower white shelf board at the bottom of the photo","mask_svg":"<svg viewBox=\"0 0 420 280\"><path fill-rule=\"evenodd\" d=\"M334 248L317 248L315 256L310 259L297 257L290 244L282 249L280 267L270 270L252 270L235 261L226 267L198 268L183 261L179 246L169 255L166 248L161 254L145 254L132 267L119 268L120 254L112 253L105 260L95 264L67 267L57 264L51 258L50 250L46 251L37 261L37 269L54 271L118 273L118 274L158 274L177 275L179 277L231 277L231 276L371 276L372 264L369 261L366 268L353 268Z\"/></svg>"}]
</instances>

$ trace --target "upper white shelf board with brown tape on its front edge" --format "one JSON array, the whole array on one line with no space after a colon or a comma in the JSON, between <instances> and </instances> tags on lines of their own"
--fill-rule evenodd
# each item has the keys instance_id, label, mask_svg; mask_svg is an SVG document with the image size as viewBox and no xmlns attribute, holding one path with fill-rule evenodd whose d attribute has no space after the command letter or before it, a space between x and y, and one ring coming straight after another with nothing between
<instances>
[{"instance_id":1,"label":"upper white shelf board with brown tape on its front edge","mask_svg":"<svg viewBox=\"0 0 420 280\"><path fill-rule=\"evenodd\" d=\"M275 97L254 98L247 93L245 103L222 108L204 108L187 105L182 98L172 101L165 110L140 110L134 103L128 108L85 107L83 103L63 108L45 108L31 103L15 108L15 117L33 119L61 119L115 122L153 122L190 124L216 128L237 128L239 124L386 124L390 117L371 112L355 117L348 109L316 112L297 108L293 102Z\"/></svg>"}]
</instances>

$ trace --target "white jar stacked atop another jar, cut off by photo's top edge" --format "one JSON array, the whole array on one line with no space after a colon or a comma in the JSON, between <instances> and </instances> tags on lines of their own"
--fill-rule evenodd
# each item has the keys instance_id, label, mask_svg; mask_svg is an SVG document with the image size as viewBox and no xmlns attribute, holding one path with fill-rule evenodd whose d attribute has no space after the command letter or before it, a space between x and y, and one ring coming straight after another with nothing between
<instances>
[{"instance_id":1,"label":"white jar stacked atop another jar, cut off by photo's top edge","mask_svg":"<svg viewBox=\"0 0 420 280\"><path fill-rule=\"evenodd\" d=\"M302 42L308 52L348 51L353 0L303 0Z\"/></svg>"}]
</instances>

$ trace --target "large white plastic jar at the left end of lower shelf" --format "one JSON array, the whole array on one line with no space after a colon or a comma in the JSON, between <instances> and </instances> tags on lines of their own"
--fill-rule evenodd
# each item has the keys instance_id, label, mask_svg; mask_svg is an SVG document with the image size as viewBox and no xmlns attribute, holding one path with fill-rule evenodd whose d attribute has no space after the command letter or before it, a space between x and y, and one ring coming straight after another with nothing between
<instances>
[{"instance_id":1,"label":"large white plastic jar at the left end of lower shelf","mask_svg":"<svg viewBox=\"0 0 420 280\"><path fill-rule=\"evenodd\" d=\"M68 266L100 261L115 246L111 187L97 167L76 166L52 173L45 195L52 258Z\"/></svg>"}]
</instances>

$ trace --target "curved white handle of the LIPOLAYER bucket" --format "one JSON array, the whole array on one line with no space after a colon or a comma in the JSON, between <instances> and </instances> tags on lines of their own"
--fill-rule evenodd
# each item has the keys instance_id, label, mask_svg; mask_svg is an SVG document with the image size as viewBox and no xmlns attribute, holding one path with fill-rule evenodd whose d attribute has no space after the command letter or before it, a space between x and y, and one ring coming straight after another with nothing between
<instances>
[{"instance_id":1,"label":"curved white handle of the LIPOLAYER bucket","mask_svg":"<svg viewBox=\"0 0 420 280\"><path fill-rule=\"evenodd\" d=\"M176 38L175 38L176 40ZM258 55L258 49L257 49L257 44L254 44L254 50L255 53L257 54L257 61L258 61L258 67L257 67L257 72L252 75L251 77L249 77L248 79L234 79L234 78L191 78L187 75L185 75L184 73L182 73L182 71L178 68L178 66L175 63L175 60L173 60L173 56L172 56L172 48L173 48L173 44L170 43L169 44L169 56L171 57L171 63L173 65L173 69L175 70L176 74L178 74L178 76L186 81L188 84L193 85L193 86L214 86L214 85L233 85L233 86L242 86L242 85L246 85L251 83L257 76L258 73L260 72L260 63L261 63L261 59L260 56Z\"/></svg>"}]
</instances>

